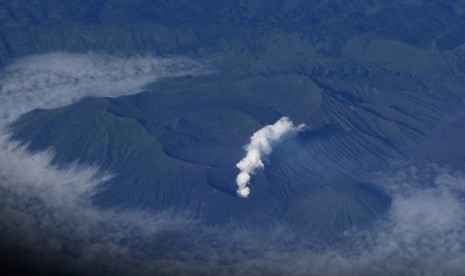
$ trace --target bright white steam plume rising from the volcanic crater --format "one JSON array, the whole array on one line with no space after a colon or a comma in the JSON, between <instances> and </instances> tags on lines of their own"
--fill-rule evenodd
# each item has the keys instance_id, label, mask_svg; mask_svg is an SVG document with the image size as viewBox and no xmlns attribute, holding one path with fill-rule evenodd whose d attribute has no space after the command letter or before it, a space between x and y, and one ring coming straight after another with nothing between
<instances>
[{"instance_id":1,"label":"bright white steam plume rising from the volcanic crater","mask_svg":"<svg viewBox=\"0 0 465 276\"><path fill-rule=\"evenodd\" d=\"M283 139L292 137L305 128L305 124L295 126L288 117L282 117L276 123L267 125L256 131L250 138L250 144L245 146L247 155L236 164L240 170L237 175L237 194L240 197L248 197L250 188L247 185L257 169L263 168L262 158L273 150L273 147Z\"/></svg>"}]
</instances>

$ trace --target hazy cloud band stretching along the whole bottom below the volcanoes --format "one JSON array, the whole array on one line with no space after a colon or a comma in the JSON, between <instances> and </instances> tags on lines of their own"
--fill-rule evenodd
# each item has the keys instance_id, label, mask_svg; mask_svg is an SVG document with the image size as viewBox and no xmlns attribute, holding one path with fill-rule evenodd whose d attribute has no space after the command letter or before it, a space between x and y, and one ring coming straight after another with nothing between
<instances>
[{"instance_id":1,"label":"hazy cloud band stretching along the whole bottom below the volcanoes","mask_svg":"<svg viewBox=\"0 0 465 276\"><path fill-rule=\"evenodd\" d=\"M412 167L374 176L393 196L386 218L327 242L307 239L281 222L269 229L205 226L179 214L102 210L90 197L109 176L77 165L58 170L49 165L51 156L31 156L13 143L0 150L2 250L27 252L23 254L31 262L50 269L46 272L465 273L465 176L441 168Z\"/></svg>"}]
</instances>

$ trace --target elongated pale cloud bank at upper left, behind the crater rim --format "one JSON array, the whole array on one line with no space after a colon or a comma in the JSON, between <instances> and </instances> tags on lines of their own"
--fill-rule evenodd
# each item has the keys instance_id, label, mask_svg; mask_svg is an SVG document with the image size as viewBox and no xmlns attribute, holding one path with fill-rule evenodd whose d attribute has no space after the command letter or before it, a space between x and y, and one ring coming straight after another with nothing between
<instances>
[{"instance_id":1,"label":"elongated pale cloud bank at upper left, behind the crater rim","mask_svg":"<svg viewBox=\"0 0 465 276\"><path fill-rule=\"evenodd\" d=\"M115 57L94 53L49 53L20 59L0 75L0 126L35 108L62 107L83 97L140 92L163 77L205 72L187 58Z\"/></svg>"}]
</instances>

